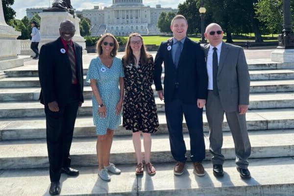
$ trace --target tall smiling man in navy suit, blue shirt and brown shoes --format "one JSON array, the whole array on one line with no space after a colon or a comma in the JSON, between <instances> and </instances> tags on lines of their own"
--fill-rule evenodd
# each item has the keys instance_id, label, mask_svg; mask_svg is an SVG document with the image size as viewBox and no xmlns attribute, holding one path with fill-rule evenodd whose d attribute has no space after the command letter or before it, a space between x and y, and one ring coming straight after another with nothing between
<instances>
[{"instance_id":1,"label":"tall smiling man in navy suit, blue shirt and brown shoes","mask_svg":"<svg viewBox=\"0 0 294 196\"><path fill-rule=\"evenodd\" d=\"M205 158L202 111L207 98L208 77L204 52L200 45L187 38L188 23L184 16L172 19L173 38L161 43L156 57L154 83L157 94L165 100L166 119L173 158L174 174L184 172L186 146L183 139L183 114L190 135L191 160L195 173L205 175L201 161ZM164 62L164 93L161 85Z\"/></svg>"}]
</instances>

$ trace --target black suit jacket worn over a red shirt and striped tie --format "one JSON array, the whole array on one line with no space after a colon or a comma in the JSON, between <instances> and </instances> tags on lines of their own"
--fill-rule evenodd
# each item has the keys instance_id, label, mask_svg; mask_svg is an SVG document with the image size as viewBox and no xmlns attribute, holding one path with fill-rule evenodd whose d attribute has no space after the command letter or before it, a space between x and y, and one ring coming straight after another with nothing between
<instances>
[{"instance_id":1,"label":"black suit jacket worn over a red shirt and striped tie","mask_svg":"<svg viewBox=\"0 0 294 196\"><path fill-rule=\"evenodd\" d=\"M79 101L83 98L83 63L82 47L73 42ZM71 96L72 69L67 53L59 37L53 42L42 46L39 56L39 79L41 84L40 102L48 104L57 101L59 106L67 104Z\"/></svg>"}]
</instances>

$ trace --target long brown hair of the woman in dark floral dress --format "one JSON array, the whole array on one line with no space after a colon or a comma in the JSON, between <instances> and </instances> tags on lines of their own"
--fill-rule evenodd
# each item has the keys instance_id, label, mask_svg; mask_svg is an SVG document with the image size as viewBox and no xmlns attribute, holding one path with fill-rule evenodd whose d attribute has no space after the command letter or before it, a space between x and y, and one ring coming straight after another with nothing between
<instances>
[{"instance_id":1,"label":"long brown hair of the woman in dark floral dress","mask_svg":"<svg viewBox=\"0 0 294 196\"><path fill-rule=\"evenodd\" d=\"M148 59L150 58L150 54L147 52L144 42L143 42L143 38L139 33L131 33L129 35L129 38L127 40L126 46L125 46L125 54L123 56L123 64L124 65L128 65L128 64L133 64L135 65L136 62L136 58L133 54L133 50L131 48L131 38L132 37L140 37L141 41L142 41L142 47L141 47L141 54L140 54L140 62L142 65L146 65L148 63Z\"/></svg>"}]
</instances>

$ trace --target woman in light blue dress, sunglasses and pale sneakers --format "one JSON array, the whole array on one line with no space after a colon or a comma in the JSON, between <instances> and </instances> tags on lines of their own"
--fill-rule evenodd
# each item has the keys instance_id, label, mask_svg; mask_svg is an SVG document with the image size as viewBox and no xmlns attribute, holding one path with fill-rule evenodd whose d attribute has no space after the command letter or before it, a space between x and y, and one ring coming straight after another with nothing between
<instances>
[{"instance_id":1,"label":"woman in light blue dress, sunglasses and pale sneakers","mask_svg":"<svg viewBox=\"0 0 294 196\"><path fill-rule=\"evenodd\" d=\"M114 129L117 129L122 121L124 73L122 60L116 57L118 48L116 38L110 33L104 34L98 40L98 57L91 60L86 78L93 91L93 120L98 135L98 175L105 181L111 179L108 172L121 173L109 162Z\"/></svg>"}]
</instances>

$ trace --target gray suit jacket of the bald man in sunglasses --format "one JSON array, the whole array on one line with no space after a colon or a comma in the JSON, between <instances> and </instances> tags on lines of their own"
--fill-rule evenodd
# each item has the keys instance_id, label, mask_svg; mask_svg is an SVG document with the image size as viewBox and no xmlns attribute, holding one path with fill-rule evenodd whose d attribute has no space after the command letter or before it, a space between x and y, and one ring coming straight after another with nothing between
<instances>
[{"instance_id":1,"label":"gray suit jacket of the bald man in sunglasses","mask_svg":"<svg viewBox=\"0 0 294 196\"><path fill-rule=\"evenodd\" d=\"M209 46L204 47L206 58ZM249 105L250 76L243 48L222 42L217 81L224 111Z\"/></svg>"}]
</instances>

